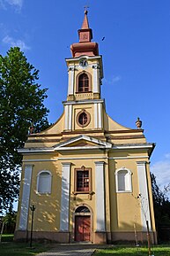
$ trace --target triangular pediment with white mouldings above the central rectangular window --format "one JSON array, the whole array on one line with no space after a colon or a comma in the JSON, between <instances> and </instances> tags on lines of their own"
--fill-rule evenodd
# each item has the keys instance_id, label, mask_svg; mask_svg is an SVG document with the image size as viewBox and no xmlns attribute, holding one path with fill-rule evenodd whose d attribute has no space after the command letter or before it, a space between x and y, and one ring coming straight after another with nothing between
<instances>
[{"instance_id":1,"label":"triangular pediment with white mouldings above the central rectangular window","mask_svg":"<svg viewBox=\"0 0 170 256\"><path fill-rule=\"evenodd\" d=\"M103 142L90 136L77 136L54 146L55 151L84 150L84 149L110 149L112 144Z\"/></svg>"}]
</instances>

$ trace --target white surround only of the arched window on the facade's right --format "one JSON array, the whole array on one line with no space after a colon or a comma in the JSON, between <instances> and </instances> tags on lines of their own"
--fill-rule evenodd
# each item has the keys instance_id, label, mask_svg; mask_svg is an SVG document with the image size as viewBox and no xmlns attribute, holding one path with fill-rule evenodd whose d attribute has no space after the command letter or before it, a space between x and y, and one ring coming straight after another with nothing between
<instances>
[{"instance_id":1,"label":"white surround only of the arched window on the facade's right","mask_svg":"<svg viewBox=\"0 0 170 256\"><path fill-rule=\"evenodd\" d=\"M125 182L124 183L125 190L119 190L119 172L121 172L121 171L127 172L127 174L125 175L125 181L124 181ZM115 171L115 187L116 187L117 193L132 192L131 175L132 175L132 172L125 167L121 167Z\"/></svg>"}]
</instances>

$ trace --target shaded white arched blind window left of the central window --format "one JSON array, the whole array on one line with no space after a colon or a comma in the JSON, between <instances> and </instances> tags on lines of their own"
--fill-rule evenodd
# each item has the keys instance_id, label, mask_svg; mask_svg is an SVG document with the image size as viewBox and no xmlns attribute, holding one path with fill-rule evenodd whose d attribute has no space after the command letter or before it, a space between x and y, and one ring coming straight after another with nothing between
<instances>
[{"instance_id":1,"label":"shaded white arched blind window left of the central window","mask_svg":"<svg viewBox=\"0 0 170 256\"><path fill-rule=\"evenodd\" d=\"M41 171L37 176L37 192L44 194L44 193L51 193L51 179L52 175L48 171Z\"/></svg>"}]
</instances>

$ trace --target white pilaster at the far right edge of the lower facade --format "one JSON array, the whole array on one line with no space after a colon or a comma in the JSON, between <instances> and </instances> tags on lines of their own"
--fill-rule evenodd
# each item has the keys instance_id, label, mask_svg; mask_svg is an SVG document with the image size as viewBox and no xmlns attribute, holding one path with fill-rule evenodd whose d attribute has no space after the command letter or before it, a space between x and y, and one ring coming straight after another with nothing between
<instances>
[{"instance_id":1,"label":"white pilaster at the far right edge of the lower facade","mask_svg":"<svg viewBox=\"0 0 170 256\"><path fill-rule=\"evenodd\" d=\"M146 167L145 162L137 162L137 175L139 183L139 193L141 194L141 215L143 230L147 229L146 221L149 223L149 229L151 229L151 214L150 214L150 203L148 195L148 184L146 178Z\"/></svg>"}]
</instances>

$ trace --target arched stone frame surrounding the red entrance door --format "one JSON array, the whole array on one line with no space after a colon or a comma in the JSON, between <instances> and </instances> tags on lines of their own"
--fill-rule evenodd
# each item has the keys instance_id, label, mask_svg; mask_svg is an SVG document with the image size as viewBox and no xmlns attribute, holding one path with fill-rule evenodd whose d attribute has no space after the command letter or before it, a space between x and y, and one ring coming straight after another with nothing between
<instances>
[{"instance_id":1,"label":"arched stone frame surrounding the red entrance door","mask_svg":"<svg viewBox=\"0 0 170 256\"><path fill-rule=\"evenodd\" d=\"M76 210L78 209L79 206L85 206L89 209L90 213L75 213ZM91 223L91 227L90 227L90 243L92 243L93 239L92 239L92 230L93 230L93 214L92 214L92 208L90 206L87 206L85 204L81 204L81 205L78 205L74 208L74 212L73 212L73 222L72 222L72 242L76 242L76 237L75 237L75 229L76 229L76 216L90 216L90 223Z\"/></svg>"}]
</instances>

